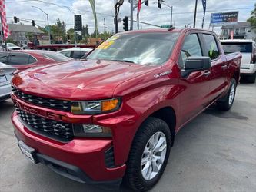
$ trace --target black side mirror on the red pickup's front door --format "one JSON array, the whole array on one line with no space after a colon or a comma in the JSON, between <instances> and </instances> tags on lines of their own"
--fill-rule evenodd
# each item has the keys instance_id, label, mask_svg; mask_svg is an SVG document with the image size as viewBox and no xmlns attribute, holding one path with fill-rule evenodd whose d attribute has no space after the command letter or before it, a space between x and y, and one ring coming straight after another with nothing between
<instances>
[{"instance_id":1,"label":"black side mirror on the red pickup's front door","mask_svg":"<svg viewBox=\"0 0 256 192\"><path fill-rule=\"evenodd\" d=\"M183 77L188 76L194 71L203 71L211 68L211 58L209 57L190 57L185 61L185 70L181 71Z\"/></svg>"}]
</instances>

